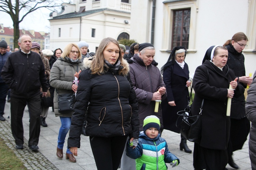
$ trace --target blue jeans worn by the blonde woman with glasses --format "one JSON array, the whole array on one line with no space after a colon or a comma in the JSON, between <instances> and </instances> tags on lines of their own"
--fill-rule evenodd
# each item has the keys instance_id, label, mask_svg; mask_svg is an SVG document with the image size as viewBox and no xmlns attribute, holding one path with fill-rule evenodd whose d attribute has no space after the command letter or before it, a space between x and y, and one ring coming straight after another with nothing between
<instances>
[{"instance_id":1,"label":"blue jeans worn by the blonde woman with glasses","mask_svg":"<svg viewBox=\"0 0 256 170\"><path fill-rule=\"evenodd\" d=\"M67 133L70 129L71 117L62 117L62 116L60 116L59 118L60 118L60 121L61 121L61 126L60 126L60 129L59 129L57 147L59 149L63 149L65 138L66 138ZM67 148L67 153L72 153L72 152L70 152L70 150Z\"/></svg>"}]
</instances>

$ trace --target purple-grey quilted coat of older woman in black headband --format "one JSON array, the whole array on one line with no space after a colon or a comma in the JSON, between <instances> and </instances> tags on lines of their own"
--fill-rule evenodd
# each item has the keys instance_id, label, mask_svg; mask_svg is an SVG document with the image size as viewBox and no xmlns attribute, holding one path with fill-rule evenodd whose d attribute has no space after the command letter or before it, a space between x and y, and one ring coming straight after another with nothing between
<instances>
[{"instance_id":1,"label":"purple-grey quilted coat of older woman in black headband","mask_svg":"<svg viewBox=\"0 0 256 170\"><path fill-rule=\"evenodd\" d=\"M143 131L143 120L145 117L155 115L160 119L160 128L163 128L162 109L159 104L158 112L155 112L155 101L151 101L153 93L160 87L165 87L162 75L156 67L158 63L153 62L146 66L143 60L137 55L128 60L130 66L131 81L136 92L139 105L140 131ZM167 96L167 92L162 96L162 100Z\"/></svg>"}]
</instances>

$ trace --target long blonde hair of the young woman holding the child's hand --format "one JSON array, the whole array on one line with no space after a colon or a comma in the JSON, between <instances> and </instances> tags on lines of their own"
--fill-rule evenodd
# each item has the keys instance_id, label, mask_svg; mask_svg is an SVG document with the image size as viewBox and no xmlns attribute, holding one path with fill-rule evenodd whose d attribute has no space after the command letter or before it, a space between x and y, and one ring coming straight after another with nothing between
<instances>
[{"instance_id":1,"label":"long blonde hair of the young woman holding the child's hand","mask_svg":"<svg viewBox=\"0 0 256 170\"><path fill-rule=\"evenodd\" d=\"M122 53L119 47L119 44L117 42L117 40L115 40L114 38L108 37L108 38L104 38L101 40L100 45L98 47L98 50L96 51L96 54L94 56L94 59L91 63L91 73L92 74L103 74L104 73L104 56L103 56L103 51L105 49L106 46L109 45L109 43L114 43L117 45L117 47L119 48L119 56L118 59L120 61L120 65L123 65L123 57L122 57ZM105 65L106 66L106 65ZM123 73L123 69L118 70L118 74L121 75Z\"/></svg>"}]
</instances>

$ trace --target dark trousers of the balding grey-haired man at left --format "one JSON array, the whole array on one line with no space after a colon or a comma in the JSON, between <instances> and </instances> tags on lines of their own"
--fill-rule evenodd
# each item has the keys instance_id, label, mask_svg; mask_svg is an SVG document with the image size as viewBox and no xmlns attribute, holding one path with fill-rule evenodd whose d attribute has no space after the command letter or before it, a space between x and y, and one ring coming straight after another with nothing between
<instances>
[{"instance_id":1,"label":"dark trousers of the balding grey-haired man at left","mask_svg":"<svg viewBox=\"0 0 256 170\"><path fill-rule=\"evenodd\" d=\"M28 145L38 145L40 135L41 98L40 95L30 98L16 98L11 96L11 128L16 145L23 144L23 112L28 104L30 113Z\"/></svg>"}]
</instances>

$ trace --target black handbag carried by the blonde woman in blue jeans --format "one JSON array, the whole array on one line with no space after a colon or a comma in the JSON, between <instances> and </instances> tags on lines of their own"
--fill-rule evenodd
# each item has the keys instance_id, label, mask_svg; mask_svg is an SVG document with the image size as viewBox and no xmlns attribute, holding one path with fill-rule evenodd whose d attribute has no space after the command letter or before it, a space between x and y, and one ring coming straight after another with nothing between
<instances>
[{"instance_id":1,"label":"black handbag carried by the blonde woman in blue jeans","mask_svg":"<svg viewBox=\"0 0 256 170\"><path fill-rule=\"evenodd\" d=\"M57 92L57 96L58 96L58 112L63 114L73 112L75 94L68 93L68 94L59 95L59 93Z\"/></svg>"}]
</instances>

